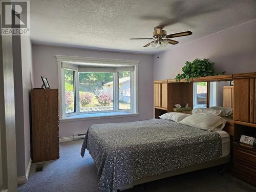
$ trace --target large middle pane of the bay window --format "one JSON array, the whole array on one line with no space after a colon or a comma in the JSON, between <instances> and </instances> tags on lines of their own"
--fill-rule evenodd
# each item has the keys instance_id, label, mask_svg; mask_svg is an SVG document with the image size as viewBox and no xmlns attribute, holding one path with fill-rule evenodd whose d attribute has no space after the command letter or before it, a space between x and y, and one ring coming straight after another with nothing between
<instances>
[{"instance_id":1,"label":"large middle pane of the bay window","mask_svg":"<svg viewBox=\"0 0 256 192\"><path fill-rule=\"evenodd\" d=\"M113 111L113 73L79 73L80 112Z\"/></svg>"}]
</instances>

